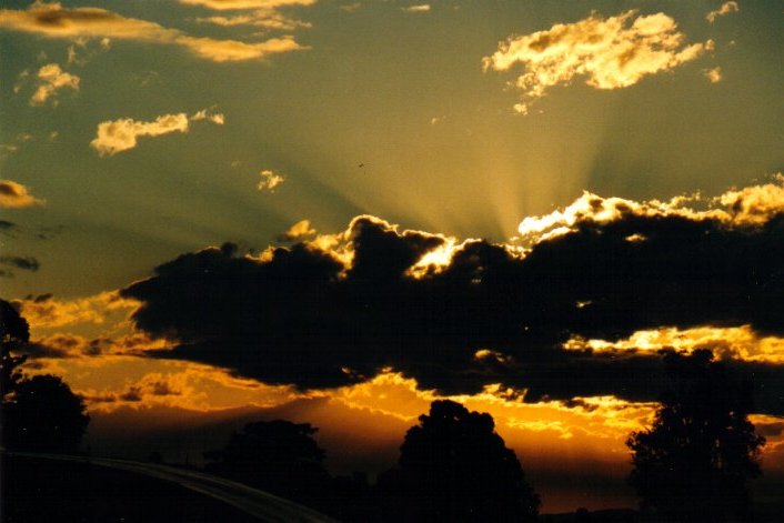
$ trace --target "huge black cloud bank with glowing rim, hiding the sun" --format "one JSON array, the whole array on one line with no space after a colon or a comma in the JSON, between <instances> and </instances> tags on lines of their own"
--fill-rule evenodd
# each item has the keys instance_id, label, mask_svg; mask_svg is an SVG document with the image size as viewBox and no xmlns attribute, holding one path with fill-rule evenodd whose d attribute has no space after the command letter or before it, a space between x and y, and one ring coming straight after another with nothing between
<instances>
[{"instance_id":1,"label":"huge black cloud bank with glowing rim, hiding the sun","mask_svg":"<svg viewBox=\"0 0 784 523\"><path fill-rule=\"evenodd\" d=\"M621 210L623 211L623 210ZM524 257L469 241L442 270L409 270L444 245L355 219L335 252L312 243L261 259L205 249L122 291L152 335L180 342L150 355L233 369L267 383L338 386L383 368L422 388L472 393L488 383L526 400L615 394L654 400L660 356L561 349L571 336L616 341L662 325L751 324L784 334L784 219L735 227L710 217L584 220ZM731 362L784 412L782 366Z\"/></svg>"}]
</instances>

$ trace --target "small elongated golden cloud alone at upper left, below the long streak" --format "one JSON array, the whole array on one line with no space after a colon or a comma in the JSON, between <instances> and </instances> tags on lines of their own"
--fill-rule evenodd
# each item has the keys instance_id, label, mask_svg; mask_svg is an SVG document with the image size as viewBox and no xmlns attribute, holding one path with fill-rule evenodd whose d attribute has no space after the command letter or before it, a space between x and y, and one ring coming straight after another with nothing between
<instances>
[{"instance_id":1,"label":"small elongated golden cloud alone at upper left, below the long streak","mask_svg":"<svg viewBox=\"0 0 784 523\"><path fill-rule=\"evenodd\" d=\"M139 137L160 137L171 132L188 132L190 122L200 120L223 124L224 118L221 113L212 113L207 109L202 109L190 118L184 112L180 112L178 114L163 114L152 122L142 122L130 118L105 121L98 124L97 135L90 142L90 147L96 149L101 157L111 157L118 152L135 148Z\"/></svg>"}]
</instances>

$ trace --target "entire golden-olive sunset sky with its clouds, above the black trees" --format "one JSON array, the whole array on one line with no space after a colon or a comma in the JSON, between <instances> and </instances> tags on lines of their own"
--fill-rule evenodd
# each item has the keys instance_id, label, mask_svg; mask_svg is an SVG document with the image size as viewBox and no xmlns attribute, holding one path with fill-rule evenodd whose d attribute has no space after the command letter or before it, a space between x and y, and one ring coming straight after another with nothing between
<instances>
[{"instance_id":1,"label":"entire golden-olive sunset sky with its clouds, above the black trees","mask_svg":"<svg viewBox=\"0 0 784 523\"><path fill-rule=\"evenodd\" d=\"M0 284L29 372L102 415L279 409L369 462L459 399L546 512L632 506L657 351L712 348L784 474L783 14L3 2ZM569 480L597 463L601 492Z\"/></svg>"}]
</instances>

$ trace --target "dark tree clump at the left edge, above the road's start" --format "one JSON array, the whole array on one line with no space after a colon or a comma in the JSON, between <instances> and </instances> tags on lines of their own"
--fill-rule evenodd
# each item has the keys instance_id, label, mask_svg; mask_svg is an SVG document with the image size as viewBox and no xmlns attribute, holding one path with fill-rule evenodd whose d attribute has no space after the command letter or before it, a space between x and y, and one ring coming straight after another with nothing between
<instances>
[{"instance_id":1,"label":"dark tree clump at the left edge, above the road's start","mask_svg":"<svg viewBox=\"0 0 784 523\"><path fill-rule=\"evenodd\" d=\"M30 340L28 322L0 300L2 343L2 442L9 450L73 452L90 421L84 402L54 375L24 378L26 356L12 351Z\"/></svg>"}]
</instances>

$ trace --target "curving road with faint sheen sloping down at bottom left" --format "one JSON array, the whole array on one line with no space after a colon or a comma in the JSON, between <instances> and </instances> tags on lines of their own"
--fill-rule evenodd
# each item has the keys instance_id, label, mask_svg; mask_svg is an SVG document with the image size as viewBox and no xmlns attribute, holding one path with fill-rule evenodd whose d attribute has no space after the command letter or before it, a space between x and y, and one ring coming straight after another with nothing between
<instances>
[{"instance_id":1,"label":"curving road with faint sheen sloping down at bottom left","mask_svg":"<svg viewBox=\"0 0 784 523\"><path fill-rule=\"evenodd\" d=\"M9 452L9 454L46 460L70 461L105 466L137 474L143 474L159 480L170 481L180 486L228 503L260 521L269 523L338 523L312 509L278 497L241 483L223 477L203 474L201 472L155 463L141 463L109 457L87 457L62 454L37 454L28 452Z\"/></svg>"}]
</instances>

